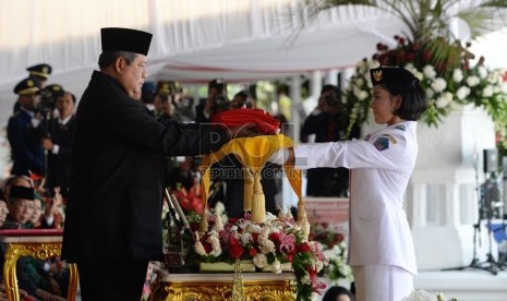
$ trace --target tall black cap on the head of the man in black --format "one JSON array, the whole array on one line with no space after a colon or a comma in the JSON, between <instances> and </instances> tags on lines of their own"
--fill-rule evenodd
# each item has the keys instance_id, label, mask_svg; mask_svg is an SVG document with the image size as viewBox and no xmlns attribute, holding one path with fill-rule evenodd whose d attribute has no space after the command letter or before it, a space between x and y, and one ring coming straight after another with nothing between
<instances>
[{"instance_id":1,"label":"tall black cap on the head of the man in black","mask_svg":"<svg viewBox=\"0 0 507 301\"><path fill-rule=\"evenodd\" d=\"M147 56L153 35L119 27L100 28L102 51L129 51Z\"/></svg>"}]
</instances>

